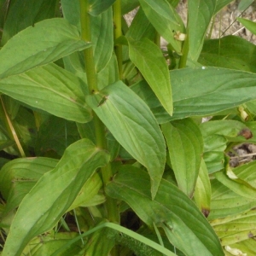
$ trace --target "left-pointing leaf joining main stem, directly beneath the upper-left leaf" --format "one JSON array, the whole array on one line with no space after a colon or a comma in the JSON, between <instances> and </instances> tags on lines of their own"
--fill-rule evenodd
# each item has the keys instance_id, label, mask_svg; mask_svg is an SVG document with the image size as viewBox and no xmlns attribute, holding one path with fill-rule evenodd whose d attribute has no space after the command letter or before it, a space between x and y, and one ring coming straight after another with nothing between
<instances>
[{"instance_id":1,"label":"left-pointing leaf joining main stem, directly beneath the upper-left leaf","mask_svg":"<svg viewBox=\"0 0 256 256\"><path fill-rule=\"evenodd\" d=\"M84 103L81 81L55 64L0 80L0 91L64 119L87 122L90 109Z\"/></svg>"}]
</instances>

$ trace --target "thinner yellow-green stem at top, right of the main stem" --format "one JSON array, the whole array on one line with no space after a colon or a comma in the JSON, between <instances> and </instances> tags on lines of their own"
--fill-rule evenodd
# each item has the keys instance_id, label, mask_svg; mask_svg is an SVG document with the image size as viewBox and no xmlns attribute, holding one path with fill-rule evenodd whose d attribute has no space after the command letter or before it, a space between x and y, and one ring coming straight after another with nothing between
<instances>
[{"instance_id":1,"label":"thinner yellow-green stem at top, right of the main stem","mask_svg":"<svg viewBox=\"0 0 256 256\"><path fill-rule=\"evenodd\" d=\"M116 0L113 3L113 38L122 36L122 13L121 13L121 0ZM114 52L117 57L118 67L119 67L119 79L123 78L123 54L122 54L122 45L117 44L114 47Z\"/></svg>"}]
</instances>

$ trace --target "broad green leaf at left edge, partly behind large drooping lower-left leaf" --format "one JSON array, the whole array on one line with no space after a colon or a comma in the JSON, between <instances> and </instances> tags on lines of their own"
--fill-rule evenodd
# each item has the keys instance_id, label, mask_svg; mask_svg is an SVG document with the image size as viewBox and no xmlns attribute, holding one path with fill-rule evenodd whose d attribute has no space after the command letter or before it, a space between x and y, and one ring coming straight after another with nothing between
<instances>
[{"instance_id":1,"label":"broad green leaf at left edge, partly behind large drooping lower-left leaf","mask_svg":"<svg viewBox=\"0 0 256 256\"><path fill-rule=\"evenodd\" d=\"M7 201L3 214L18 207L38 179L54 169L57 162L49 158L22 158L4 165L0 172L1 194Z\"/></svg>"}]
</instances>

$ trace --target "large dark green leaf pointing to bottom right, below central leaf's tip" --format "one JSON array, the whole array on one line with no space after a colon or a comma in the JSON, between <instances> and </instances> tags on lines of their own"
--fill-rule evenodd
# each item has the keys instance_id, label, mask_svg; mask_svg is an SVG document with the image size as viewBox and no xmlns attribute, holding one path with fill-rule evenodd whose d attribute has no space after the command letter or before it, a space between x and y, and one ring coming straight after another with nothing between
<instances>
[{"instance_id":1,"label":"large dark green leaf pointing to bottom right, below central leaf's tip","mask_svg":"<svg viewBox=\"0 0 256 256\"><path fill-rule=\"evenodd\" d=\"M154 200L149 189L147 172L123 166L106 192L128 203L145 224L164 228L173 246L186 255L224 255L211 225L180 189L162 180Z\"/></svg>"}]
</instances>

